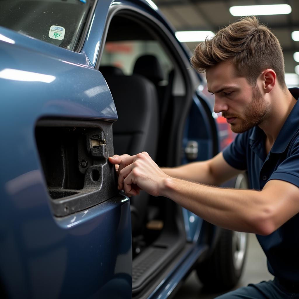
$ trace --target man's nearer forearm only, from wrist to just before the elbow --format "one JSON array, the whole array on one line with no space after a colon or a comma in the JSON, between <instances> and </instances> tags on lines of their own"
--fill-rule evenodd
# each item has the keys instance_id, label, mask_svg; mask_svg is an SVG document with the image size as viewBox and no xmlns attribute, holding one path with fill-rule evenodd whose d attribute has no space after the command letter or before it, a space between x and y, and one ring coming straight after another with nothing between
<instances>
[{"instance_id":1,"label":"man's nearer forearm only, from wrist to just before the elbow","mask_svg":"<svg viewBox=\"0 0 299 299\"><path fill-rule=\"evenodd\" d=\"M164 179L163 186L162 196L210 223L256 234L268 231L266 203L259 191L210 187L176 178Z\"/></svg>"}]
</instances>

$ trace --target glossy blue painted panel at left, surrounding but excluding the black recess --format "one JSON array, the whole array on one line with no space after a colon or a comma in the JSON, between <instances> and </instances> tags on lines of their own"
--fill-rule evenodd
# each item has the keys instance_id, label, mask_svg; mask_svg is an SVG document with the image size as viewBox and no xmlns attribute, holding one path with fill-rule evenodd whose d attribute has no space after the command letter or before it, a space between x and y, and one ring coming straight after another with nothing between
<instances>
[{"instance_id":1,"label":"glossy blue painted panel at left, surrounding but excluding the black recess","mask_svg":"<svg viewBox=\"0 0 299 299\"><path fill-rule=\"evenodd\" d=\"M131 298L129 200L55 218L34 136L45 117L116 120L106 82L84 53L5 28L0 34L4 288L12 298Z\"/></svg>"}]
</instances>

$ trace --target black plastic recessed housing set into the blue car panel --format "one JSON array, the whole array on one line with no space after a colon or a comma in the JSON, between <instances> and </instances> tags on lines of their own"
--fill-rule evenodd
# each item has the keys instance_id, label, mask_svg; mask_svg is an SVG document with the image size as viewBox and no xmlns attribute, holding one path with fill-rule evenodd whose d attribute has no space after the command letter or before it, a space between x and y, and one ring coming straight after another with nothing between
<instances>
[{"instance_id":1,"label":"black plastic recessed housing set into the blue car panel","mask_svg":"<svg viewBox=\"0 0 299 299\"><path fill-rule=\"evenodd\" d=\"M60 143L57 140L62 140L61 136L64 137L65 135L60 135L60 139L55 140L55 134L58 135L61 131L63 131L63 134L68 134L72 128L74 131L79 130L78 135L80 135L80 141L85 144L85 148L78 145L78 148L74 150L75 153L78 151L78 158L68 159L66 157L61 160L65 165L62 165L59 170L54 169L54 171L59 176L61 169L63 178L56 180L55 175L51 176L53 172L47 170L47 165L51 166L52 161L56 163L56 156L51 156L51 143L54 144L55 149L58 149L56 151L57 155L60 150ZM51 140L48 141L48 138ZM70 135L71 139L72 135ZM39 149L41 168L44 170L45 181L48 185L49 200L55 216L62 217L90 208L118 194L115 168L108 162L108 156L114 155L112 123L107 121L39 120L36 123L36 143ZM50 150L47 147L50 147ZM61 147L63 147L63 144ZM66 152L66 155L68 155L68 152ZM87 165L83 165L85 167L81 166L80 161L82 161L82 158L79 157L82 157L82 155L86 157L88 167ZM47 161L47 159L50 161ZM61 161L59 160L57 165L60 165ZM75 165L68 165L73 163ZM80 188L80 184L74 185L72 182L70 184L60 184L61 181L65 181L65 176L74 170L81 178L82 187ZM69 186L78 187L74 189Z\"/></svg>"}]
</instances>

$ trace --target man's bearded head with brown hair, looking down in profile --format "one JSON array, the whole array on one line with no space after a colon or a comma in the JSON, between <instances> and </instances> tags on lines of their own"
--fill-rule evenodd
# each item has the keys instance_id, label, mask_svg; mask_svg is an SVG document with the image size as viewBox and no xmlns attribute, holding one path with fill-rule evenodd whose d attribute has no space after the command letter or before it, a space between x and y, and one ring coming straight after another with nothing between
<instances>
[{"instance_id":1,"label":"man's bearded head with brown hair, looking down in profile","mask_svg":"<svg viewBox=\"0 0 299 299\"><path fill-rule=\"evenodd\" d=\"M191 62L196 71L206 71L214 111L222 112L236 133L266 120L273 89L287 91L281 46L256 17L232 23L200 43Z\"/></svg>"}]
</instances>

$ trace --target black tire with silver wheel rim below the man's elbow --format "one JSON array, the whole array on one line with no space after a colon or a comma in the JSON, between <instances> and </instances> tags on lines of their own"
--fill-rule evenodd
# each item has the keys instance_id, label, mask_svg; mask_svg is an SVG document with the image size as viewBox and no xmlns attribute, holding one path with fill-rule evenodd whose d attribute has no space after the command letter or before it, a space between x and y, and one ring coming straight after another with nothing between
<instances>
[{"instance_id":1,"label":"black tire with silver wheel rim below the man's elbow","mask_svg":"<svg viewBox=\"0 0 299 299\"><path fill-rule=\"evenodd\" d=\"M247 189L247 177L237 177L236 188ZM213 254L199 264L197 275L212 292L227 291L238 283L245 264L248 234L222 229Z\"/></svg>"}]
</instances>

